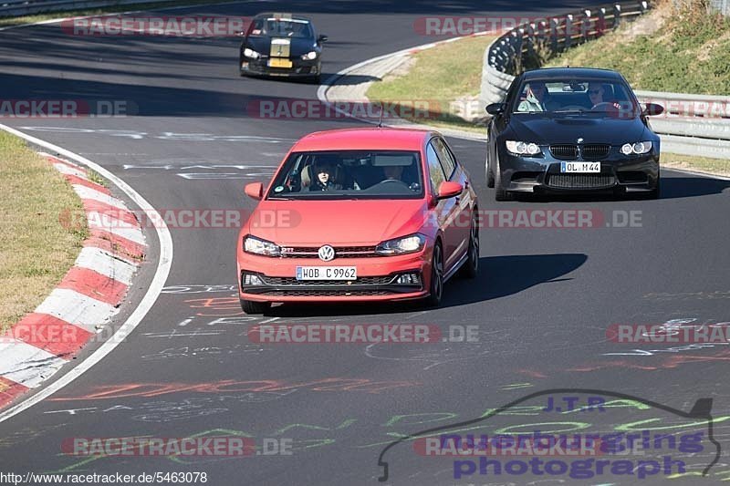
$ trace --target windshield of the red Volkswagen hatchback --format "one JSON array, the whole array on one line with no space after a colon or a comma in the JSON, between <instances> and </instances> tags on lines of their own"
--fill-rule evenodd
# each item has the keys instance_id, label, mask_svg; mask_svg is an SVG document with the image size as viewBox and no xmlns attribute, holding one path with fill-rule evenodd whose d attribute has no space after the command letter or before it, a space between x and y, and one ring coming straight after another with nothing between
<instances>
[{"instance_id":1,"label":"windshield of the red Volkswagen hatchback","mask_svg":"<svg viewBox=\"0 0 730 486\"><path fill-rule=\"evenodd\" d=\"M421 158L408 150L293 152L267 199L420 199Z\"/></svg>"}]
</instances>

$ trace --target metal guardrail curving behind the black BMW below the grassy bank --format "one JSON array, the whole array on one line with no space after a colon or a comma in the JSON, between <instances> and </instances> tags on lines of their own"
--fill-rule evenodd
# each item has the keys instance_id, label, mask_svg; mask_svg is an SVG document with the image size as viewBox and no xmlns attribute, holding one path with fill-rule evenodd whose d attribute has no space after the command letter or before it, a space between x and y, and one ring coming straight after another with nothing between
<instances>
[{"instance_id":1,"label":"metal guardrail curving behind the black BMW below the grassy bank","mask_svg":"<svg viewBox=\"0 0 730 486\"><path fill-rule=\"evenodd\" d=\"M647 12L647 2L602 5L543 21L524 23L495 39L485 50L480 101L485 107L505 98L526 67L541 58L597 38ZM730 97L635 91L642 103L656 102L665 115L651 119L662 149L685 155L730 159Z\"/></svg>"}]
</instances>

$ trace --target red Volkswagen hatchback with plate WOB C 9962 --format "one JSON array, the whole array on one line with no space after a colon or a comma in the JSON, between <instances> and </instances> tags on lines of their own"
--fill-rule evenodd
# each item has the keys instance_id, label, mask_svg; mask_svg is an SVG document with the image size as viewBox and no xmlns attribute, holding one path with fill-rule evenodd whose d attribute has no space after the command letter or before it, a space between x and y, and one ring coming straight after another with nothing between
<instances>
[{"instance_id":1,"label":"red Volkswagen hatchback with plate WOB C 9962","mask_svg":"<svg viewBox=\"0 0 730 486\"><path fill-rule=\"evenodd\" d=\"M419 129L312 133L289 150L238 240L247 314L275 302L423 299L458 270L476 275L469 175L443 137Z\"/></svg>"}]
</instances>

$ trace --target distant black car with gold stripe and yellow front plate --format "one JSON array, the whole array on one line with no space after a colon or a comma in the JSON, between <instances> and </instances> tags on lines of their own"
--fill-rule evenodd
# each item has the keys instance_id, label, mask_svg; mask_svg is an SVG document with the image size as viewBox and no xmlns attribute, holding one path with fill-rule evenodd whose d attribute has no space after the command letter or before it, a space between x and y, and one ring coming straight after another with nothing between
<instances>
[{"instance_id":1,"label":"distant black car with gold stripe and yellow front plate","mask_svg":"<svg viewBox=\"0 0 730 486\"><path fill-rule=\"evenodd\" d=\"M322 73L322 43L311 21L291 14L255 16L241 42L241 76L286 76L318 82Z\"/></svg>"}]
</instances>

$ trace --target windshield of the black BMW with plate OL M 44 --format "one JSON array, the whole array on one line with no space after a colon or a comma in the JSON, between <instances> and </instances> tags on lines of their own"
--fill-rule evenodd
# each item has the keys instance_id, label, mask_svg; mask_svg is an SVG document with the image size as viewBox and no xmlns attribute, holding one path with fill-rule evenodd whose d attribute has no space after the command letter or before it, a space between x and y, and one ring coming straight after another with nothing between
<instances>
[{"instance_id":1,"label":"windshield of the black BMW with plate OL M 44","mask_svg":"<svg viewBox=\"0 0 730 486\"><path fill-rule=\"evenodd\" d=\"M517 91L514 113L620 114L638 111L631 88L616 79L531 79Z\"/></svg>"}]
</instances>

